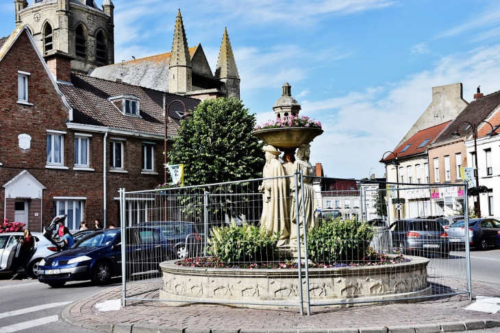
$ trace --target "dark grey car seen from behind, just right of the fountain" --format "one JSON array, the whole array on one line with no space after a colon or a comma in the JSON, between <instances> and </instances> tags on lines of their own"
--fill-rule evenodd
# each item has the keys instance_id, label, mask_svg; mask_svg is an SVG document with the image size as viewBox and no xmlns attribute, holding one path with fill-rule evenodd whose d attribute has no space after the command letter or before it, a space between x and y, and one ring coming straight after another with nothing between
<instances>
[{"instance_id":1,"label":"dark grey car seen from behind, just right of the fountain","mask_svg":"<svg viewBox=\"0 0 500 333\"><path fill-rule=\"evenodd\" d=\"M389 226L392 243L405 254L449 256L448 234L436 220L402 219Z\"/></svg>"}]
</instances>

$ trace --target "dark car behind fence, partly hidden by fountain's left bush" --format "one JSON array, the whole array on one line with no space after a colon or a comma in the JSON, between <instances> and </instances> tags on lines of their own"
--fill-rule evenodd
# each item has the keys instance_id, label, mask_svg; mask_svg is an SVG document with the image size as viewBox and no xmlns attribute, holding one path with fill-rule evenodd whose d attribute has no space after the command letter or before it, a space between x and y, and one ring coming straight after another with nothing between
<instances>
[{"instance_id":1,"label":"dark car behind fence, partly hidden by fountain's left bush","mask_svg":"<svg viewBox=\"0 0 500 333\"><path fill-rule=\"evenodd\" d=\"M149 221L139 225L160 227L165 238L173 245L175 258L195 257L203 253L205 237L199 234L194 222Z\"/></svg>"}]
</instances>

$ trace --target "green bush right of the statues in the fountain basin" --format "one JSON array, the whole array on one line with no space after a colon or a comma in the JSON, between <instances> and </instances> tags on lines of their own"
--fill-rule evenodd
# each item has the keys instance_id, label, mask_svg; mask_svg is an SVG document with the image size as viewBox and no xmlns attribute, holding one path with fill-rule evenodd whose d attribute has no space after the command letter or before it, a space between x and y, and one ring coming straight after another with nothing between
<instances>
[{"instance_id":1,"label":"green bush right of the statues in the fountain basin","mask_svg":"<svg viewBox=\"0 0 500 333\"><path fill-rule=\"evenodd\" d=\"M366 255L373 230L353 219L329 219L308 231L308 257L313 262L358 261Z\"/></svg>"}]
</instances>

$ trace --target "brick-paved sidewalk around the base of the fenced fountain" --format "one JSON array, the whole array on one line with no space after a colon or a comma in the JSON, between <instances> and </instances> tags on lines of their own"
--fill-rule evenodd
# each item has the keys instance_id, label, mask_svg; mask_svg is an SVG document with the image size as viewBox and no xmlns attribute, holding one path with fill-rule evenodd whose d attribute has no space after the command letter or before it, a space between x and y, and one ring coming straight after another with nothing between
<instances>
[{"instance_id":1,"label":"brick-paved sidewalk around the base of the fenced fountain","mask_svg":"<svg viewBox=\"0 0 500 333\"><path fill-rule=\"evenodd\" d=\"M170 307L158 301L127 301L127 307L119 310L96 308L96 304L121 299L121 286L114 286L70 304L63 310L62 317L68 323L91 330L127 333L387 333L388 330L390 333L438 333L500 326L500 312L464 309L475 301L476 295L500 297L500 291L473 283L473 301L466 295L458 295L410 304L312 307L309 317L301 316L299 308Z\"/></svg>"}]
</instances>

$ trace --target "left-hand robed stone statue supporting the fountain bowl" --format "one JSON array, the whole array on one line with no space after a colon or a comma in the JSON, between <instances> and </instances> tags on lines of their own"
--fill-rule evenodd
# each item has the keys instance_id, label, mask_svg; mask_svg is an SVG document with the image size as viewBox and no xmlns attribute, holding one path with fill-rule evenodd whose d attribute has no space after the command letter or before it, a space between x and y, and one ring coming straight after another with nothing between
<instances>
[{"instance_id":1,"label":"left-hand robed stone statue supporting the fountain bowl","mask_svg":"<svg viewBox=\"0 0 500 333\"><path fill-rule=\"evenodd\" d=\"M282 177L286 176L285 169L278 160L281 153L272 145L264 146L266 153L266 164L264 165L263 176ZM279 234L278 245L288 243L290 237L290 207L287 200L289 189L286 178L275 178L264 180L259 186L259 191L263 193L262 217L260 217L261 227L265 227L270 234Z\"/></svg>"}]
</instances>

